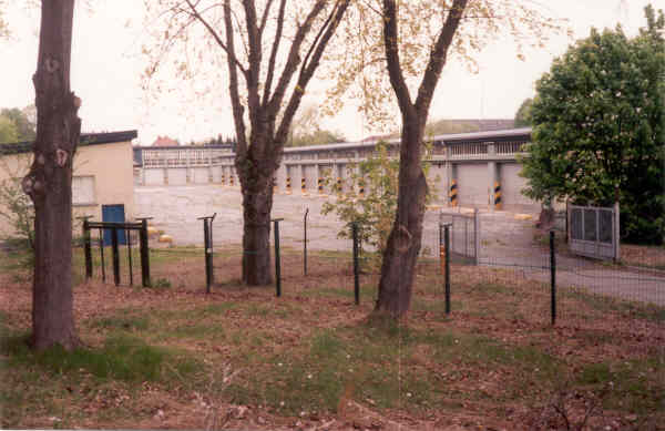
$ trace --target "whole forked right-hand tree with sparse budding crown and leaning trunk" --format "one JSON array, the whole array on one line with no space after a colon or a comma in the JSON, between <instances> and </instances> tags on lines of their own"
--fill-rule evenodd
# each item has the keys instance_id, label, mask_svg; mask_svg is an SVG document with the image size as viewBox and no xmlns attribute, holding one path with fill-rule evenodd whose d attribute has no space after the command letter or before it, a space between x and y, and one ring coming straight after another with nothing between
<instances>
[{"instance_id":1,"label":"whole forked right-hand tree with sparse budding crown and leaning trunk","mask_svg":"<svg viewBox=\"0 0 665 431\"><path fill-rule=\"evenodd\" d=\"M398 318L410 307L421 247L428 187L422 171L424 131L443 66L454 60L478 70L474 54L497 37L542 47L546 33L561 30L533 2L512 0L364 0L355 3L342 34L351 54L337 53L330 91L338 101L349 92L360 101L370 125L401 120L396 219L383 252L376 312ZM337 72L336 72L337 71ZM451 101L452 102L452 101ZM334 102L338 103L338 102ZM372 124L374 123L374 124Z\"/></svg>"}]
</instances>

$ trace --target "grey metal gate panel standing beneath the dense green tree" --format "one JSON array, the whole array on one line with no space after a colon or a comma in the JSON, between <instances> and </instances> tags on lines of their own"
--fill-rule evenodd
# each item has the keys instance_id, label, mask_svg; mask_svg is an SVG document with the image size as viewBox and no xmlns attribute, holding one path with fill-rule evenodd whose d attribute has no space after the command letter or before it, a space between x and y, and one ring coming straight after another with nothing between
<instances>
[{"instance_id":1,"label":"grey metal gate panel standing beneath the dense green tree","mask_svg":"<svg viewBox=\"0 0 665 431\"><path fill-rule=\"evenodd\" d=\"M614 207L569 205L570 250L596 259L618 260L618 204Z\"/></svg>"}]
</instances>

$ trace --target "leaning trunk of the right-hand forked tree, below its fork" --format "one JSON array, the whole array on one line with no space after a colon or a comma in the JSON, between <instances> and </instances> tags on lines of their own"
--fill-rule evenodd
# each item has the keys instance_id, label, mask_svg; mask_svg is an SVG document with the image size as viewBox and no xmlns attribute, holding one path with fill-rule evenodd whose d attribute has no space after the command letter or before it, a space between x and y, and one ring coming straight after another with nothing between
<instances>
[{"instance_id":1,"label":"leaning trunk of the right-hand forked tree, below its fork","mask_svg":"<svg viewBox=\"0 0 665 431\"><path fill-rule=\"evenodd\" d=\"M402 119L397 213L383 252L376 304L376 311L395 318L403 316L411 306L428 193L420 156L424 121L409 114L402 115Z\"/></svg>"}]
</instances>

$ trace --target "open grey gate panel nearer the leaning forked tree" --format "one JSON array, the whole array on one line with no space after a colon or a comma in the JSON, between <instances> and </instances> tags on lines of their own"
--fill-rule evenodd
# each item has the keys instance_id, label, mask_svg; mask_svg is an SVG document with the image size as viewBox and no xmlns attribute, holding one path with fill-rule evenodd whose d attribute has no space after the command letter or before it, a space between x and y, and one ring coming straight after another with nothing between
<instances>
[{"instance_id":1,"label":"open grey gate panel nearer the leaning forked tree","mask_svg":"<svg viewBox=\"0 0 665 431\"><path fill-rule=\"evenodd\" d=\"M443 213L439 222L450 224L450 258L454 263L478 265L480 257L480 217L471 214Z\"/></svg>"}]
</instances>

